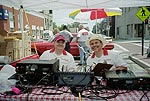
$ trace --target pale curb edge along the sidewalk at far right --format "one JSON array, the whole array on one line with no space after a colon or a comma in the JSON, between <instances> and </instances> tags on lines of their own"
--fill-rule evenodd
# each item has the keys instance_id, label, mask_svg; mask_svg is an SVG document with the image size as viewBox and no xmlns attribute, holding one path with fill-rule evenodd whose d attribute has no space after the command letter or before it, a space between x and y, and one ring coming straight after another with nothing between
<instances>
[{"instance_id":1,"label":"pale curb edge along the sidewalk at far right","mask_svg":"<svg viewBox=\"0 0 150 101\"><path fill-rule=\"evenodd\" d=\"M136 64L140 65L143 68L150 68L150 65L142 60L139 60L138 58L134 56L129 56L129 59L134 61Z\"/></svg>"}]
</instances>

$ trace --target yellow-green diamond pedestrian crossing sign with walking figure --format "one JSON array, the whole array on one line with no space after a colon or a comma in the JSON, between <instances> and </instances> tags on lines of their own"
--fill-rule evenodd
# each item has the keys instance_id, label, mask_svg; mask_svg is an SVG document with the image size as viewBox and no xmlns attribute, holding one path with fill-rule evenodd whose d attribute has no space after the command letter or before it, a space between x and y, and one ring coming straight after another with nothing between
<instances>
[{"instance_id":1,"label":"yellow-green diamond pedestrian crossing sign with walking figure","mask_svg":"<svg viewBox=\"0 0 150 101\"><path fill-rule=\"evenodd\" d=\"M146 7L142 7L136 13L136 16L141 20L145 21L150 16L150 11Z\"/></svg>"}]
</instances>

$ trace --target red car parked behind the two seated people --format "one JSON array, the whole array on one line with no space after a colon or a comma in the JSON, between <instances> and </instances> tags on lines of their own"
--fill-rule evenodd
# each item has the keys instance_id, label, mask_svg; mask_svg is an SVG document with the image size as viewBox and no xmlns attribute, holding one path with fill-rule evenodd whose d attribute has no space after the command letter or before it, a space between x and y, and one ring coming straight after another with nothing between
<instances>
[{"instance_id":1,"label":"red car parked behind the two seated people","mask_svg":"<svg viewBox=\"0 0 150 101\"><path fill-rule=\"evenodd\" d=\"M71 46L70 47L70 53L74 57L79 57L80 55L79 55L78 43L76 43L77 33L72 33L72 35L73 35L73 40L70 43L70 46ZM37 49L37 52L39 55L41 55L45 50L49 50L49 49L54 47L52 39L49 39L48 41L32 41L31 42L31 51L32 52L35 52L35 46L36 46L36 49ZM105 48L108 50L111 50L114 48L114 44L113 43L107 43Z\"/></svg>"}]
</instances>

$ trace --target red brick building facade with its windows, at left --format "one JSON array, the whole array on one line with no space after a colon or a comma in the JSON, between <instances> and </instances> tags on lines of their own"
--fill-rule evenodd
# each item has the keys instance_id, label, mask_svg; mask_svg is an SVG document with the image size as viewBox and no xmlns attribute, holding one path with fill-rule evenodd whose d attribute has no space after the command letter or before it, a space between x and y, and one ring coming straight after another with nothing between
<instances>
[{"instance_id":1,"label":"red brick building facade with its windows, at left","mask_svg":"<svg viewBox=\"0 0 150 101\"><path fill-rule=\"evenodd\" d=\"M8 32L20 31L20 20L22 18L20 18L19 10L4 5L0 5L0 9L8 12L8 19L0 18L0 35L6 36ZM3 14L3 12L1 12L1 14ZM27 30L27 27L30 27L31 35L36 37L41 36L44 30L44 17L29 11L26 13L23 12L24 30Z\"/></svg>"}]
</instances>

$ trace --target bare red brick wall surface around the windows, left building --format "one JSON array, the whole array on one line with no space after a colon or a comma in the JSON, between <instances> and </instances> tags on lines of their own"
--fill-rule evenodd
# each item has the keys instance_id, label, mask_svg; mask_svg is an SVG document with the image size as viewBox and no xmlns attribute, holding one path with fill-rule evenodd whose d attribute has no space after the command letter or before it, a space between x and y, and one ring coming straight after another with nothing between
<instances>
[{"instance_id":1,"label":"bare red brick wall surface around the windows, left building","mask_svg":"<svg viewBox=\"0 0 150 101\"><path fill-rule=\"evenodd\" d=\"M20 30L19 29L19 20L18 20L18 15L19 15L19 10L16 10L16 9L13 9L11 7L6 7L4 5L0 5L0 8L3 8L3 9L7 9L9 12L14 12L14 31L17 31L17 30ZM39 16L35 16L35 15L32 15L32 14L27 14L27 18L28 18L28 21L29 21L29 25L30 27L32 25L35 25L35 26L39 26L39 27L44 27L44 18L42 17L39 17ZM27 25L27 19L25 17L25 13L23 14L23 25L24 25L24 28L25 28L25 25ZM9 19L8 20L0 20L0 32L4 32L4 31L8 31L10 32L11 29L10 29L10 21Z\"/></svg>"}]
</instances>

